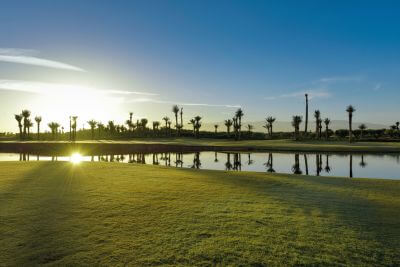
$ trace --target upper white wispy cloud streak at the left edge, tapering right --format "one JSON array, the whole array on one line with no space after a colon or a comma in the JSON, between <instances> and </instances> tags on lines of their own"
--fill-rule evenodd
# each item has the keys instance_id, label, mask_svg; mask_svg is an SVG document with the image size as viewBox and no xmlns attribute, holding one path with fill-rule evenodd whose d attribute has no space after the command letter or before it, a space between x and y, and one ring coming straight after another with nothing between
<instances>
[{"instance_id":1,"label":"upper white wispy cloud streak at the left edge, tapering right","mask_svg":"<svg viewBox=\"0 0 400 267\"><path fill-rule=\"evenodd\" d=\"M34 56L37 53L35 50L28 49L0 48L0 61L72 71L85 71L70 64Z\"/></svg>"}]
</instances>

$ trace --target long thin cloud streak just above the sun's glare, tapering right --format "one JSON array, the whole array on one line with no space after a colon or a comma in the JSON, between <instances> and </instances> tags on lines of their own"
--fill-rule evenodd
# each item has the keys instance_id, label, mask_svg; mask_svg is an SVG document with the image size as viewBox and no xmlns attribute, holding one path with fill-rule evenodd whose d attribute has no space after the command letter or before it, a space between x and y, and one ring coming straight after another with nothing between
<instances>
[{"instance_id":1,"label":"long thin cloud streak just above the sun's glare, tapering right","mask_svg":"<svg viewBox=\"0 0 400 267\"><path fill-rule=\"evenodd\" d=\"M157 94L147 92L131 92L121 90L102 90L91 87L86 87L76 84L62 84L62 83L46 83L39 81L21 81L21 80L2 80L0 79L0 90L20 91L37 94L77 94L85 92L88 94L102 94L102 95L144 95L154 96Z\"/></svg>"}]
</instances>

